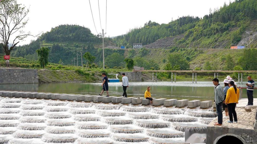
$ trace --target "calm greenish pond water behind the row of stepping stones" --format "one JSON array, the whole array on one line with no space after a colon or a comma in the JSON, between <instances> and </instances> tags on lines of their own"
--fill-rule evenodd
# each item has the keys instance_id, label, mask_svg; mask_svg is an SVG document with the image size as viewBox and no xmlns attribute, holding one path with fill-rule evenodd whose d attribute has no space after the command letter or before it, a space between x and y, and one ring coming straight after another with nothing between
<instances>
[{"instance_id":1,"label":"calm greenish pond water behind the row of stepping stones","mask_svg":"<svg viewBox=\"0 0 257 144\"><path fill-rule=\"evenodd\" d=\"M245 83L239 84L245 87ZM123 89L120 83L108 83L110 96L121 96ZM221 83L222 87L224 84ZM130 82L127 94L134 97L143 97L147 86L151 86L151 95L156 98L177 99L214 99L214 85L212 82ZM17 90L30 92L90 94L100 93L101 83L48 83L48 84L2 84L0 90ZM255 90L256 91L256 90ZM106 93L104 93L106 95ZM247 98L246 90L243 89L243 98ZM254 92L254 98L257 98Z\"/></svg>"}]
</instances>

